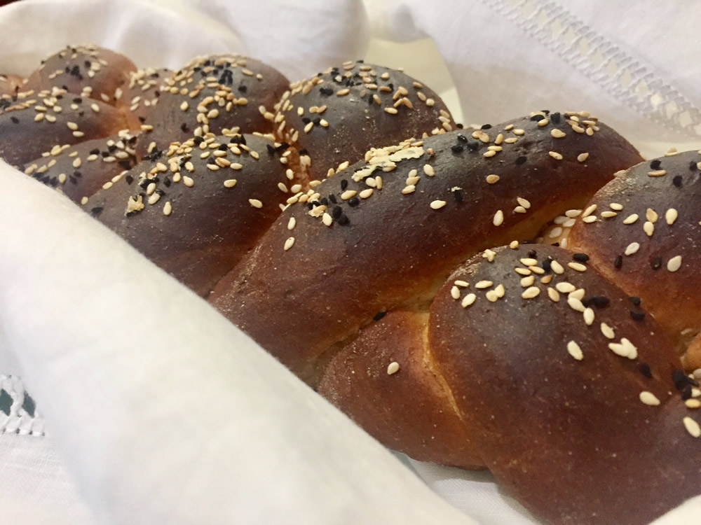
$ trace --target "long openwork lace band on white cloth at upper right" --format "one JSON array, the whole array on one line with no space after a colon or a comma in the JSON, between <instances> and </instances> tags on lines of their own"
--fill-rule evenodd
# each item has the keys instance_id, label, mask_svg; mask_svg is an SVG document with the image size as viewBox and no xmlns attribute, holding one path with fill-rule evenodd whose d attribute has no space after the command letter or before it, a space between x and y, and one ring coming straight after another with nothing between
<instances>
[{"instance_id":1,"label":"long openwork lace band on white cloth at upper right","mask_svg":"<svg viewBox=\"0 0 701 525\"><path fill-rule=\"evenodd\" d=\"M547 0L483 1L634 111L677 133L701 136L701 111L694 104L562 6Z\"/></svg>"}]
</instances>

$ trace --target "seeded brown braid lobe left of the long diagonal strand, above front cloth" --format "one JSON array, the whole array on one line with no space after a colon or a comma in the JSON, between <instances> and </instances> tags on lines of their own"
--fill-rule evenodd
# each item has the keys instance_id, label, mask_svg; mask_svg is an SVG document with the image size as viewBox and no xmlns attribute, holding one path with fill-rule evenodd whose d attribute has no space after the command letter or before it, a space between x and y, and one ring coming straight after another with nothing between
<instances>
[{"instance_id":1,"label":"seeded brown braid lobe left of the long diagonal strand, above front cloth","mask_svg":"<svg viewBox=\"0 0 701 525\"><path fill-rule=\"evenodd\" d=\"M196 293L212 286L280 214L292 172L264 137L194 137L157 151L83 207Z\"/></svg>"}]
</instances>

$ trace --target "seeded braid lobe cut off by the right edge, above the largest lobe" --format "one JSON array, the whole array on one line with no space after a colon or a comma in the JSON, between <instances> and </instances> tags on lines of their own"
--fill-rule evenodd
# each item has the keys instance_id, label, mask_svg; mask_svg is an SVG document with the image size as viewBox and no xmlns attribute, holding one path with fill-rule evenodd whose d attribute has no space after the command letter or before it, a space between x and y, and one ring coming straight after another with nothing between
<instances>
[{"instance_id":1,"label":"seeded braid lobe cut off by the right edge, above the largest lobe","mask_svg":"<svg viewBox=\"0 0 701 525\"><path fill-rule=\"evenodd\" d=\"M601 188L568 239L607 279L640 297L680 351L701 330L700 202L701 154L665 156ZM686 356L689 370L701 367L695 348Z\"/></svg>"}]
</instances>

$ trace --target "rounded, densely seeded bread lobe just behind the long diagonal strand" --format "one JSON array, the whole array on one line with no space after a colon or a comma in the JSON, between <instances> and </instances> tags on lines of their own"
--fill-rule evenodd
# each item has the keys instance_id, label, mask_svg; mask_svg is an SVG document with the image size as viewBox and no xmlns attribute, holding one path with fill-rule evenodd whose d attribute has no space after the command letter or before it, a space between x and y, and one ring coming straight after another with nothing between
<instances>
[{"instance_id":1,"label":"rounded, densely seeded bread lobe just behind the long diagonal strand","mask_svg":"<svg viewBox=\"0 0 701 525\"><path fill-rule=\"evenodd\" d=\"M266 116L278 139L299 149L318 180L372 146L456 129L426 85L403 71L352 60L293 83Z\"/></svg>"}]
</instances>

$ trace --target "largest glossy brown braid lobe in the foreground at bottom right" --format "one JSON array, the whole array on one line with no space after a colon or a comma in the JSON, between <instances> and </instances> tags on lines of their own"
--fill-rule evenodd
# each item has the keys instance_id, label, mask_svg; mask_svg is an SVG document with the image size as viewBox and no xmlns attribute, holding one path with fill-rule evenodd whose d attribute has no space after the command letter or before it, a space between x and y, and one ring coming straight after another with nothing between
<instances>
[{"instance_id":1,"label":"largest glossy brown braid lobe in the foreground at bottom right","mask_svg":"<svg viewBox=\"0 0 701 525\"><path fill-rule=\"evenodd\" d=\"M699 493L701 466L693 458L701 439L691 434L701 412L681 399L677 387L692 384L664 330L651 316L632 318L629 311L640 310L629 297L572 253L545 245L495 251L494 262L466 262L437 294L429 342L502 486L557 524L647 524ZM536 266L550 271L534 274ZM531 276L533 283L522 283ZM456 280L469 286L454 296ZM583 300L574 301L579 295L570 296L563 283L583 289ZM500 285L503 296L492 302L487 297ZM531 287L540 293L523 298L533 295ZM555 302L548 289L558 287ZM475 301L463 307L470 293ZM582 302L592 309L590 325ZM610 349L630 352L622 338L637 346L637 356Z\"/></svg>"}]
</instances>

